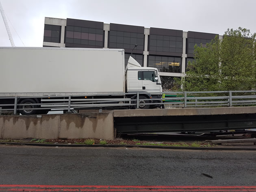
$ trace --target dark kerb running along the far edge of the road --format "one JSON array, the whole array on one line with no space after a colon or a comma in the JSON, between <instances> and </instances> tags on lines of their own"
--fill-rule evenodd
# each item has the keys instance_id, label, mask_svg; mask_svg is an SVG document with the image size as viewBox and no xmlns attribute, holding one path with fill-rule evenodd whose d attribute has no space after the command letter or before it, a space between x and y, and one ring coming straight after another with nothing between
<instances>
[{"instance_id":1,"label":"dark kerb running along the far edge of the road","mask_svg":"<svg viewBox=\"0 0 256 192\"><path fill-rule=\"evenodd\" d=\"M256 151L256 148L234 148L234 147L171 147L171 146L152 146L152 145L83 145L83 144L49 144L49 143L18 143L18 142L0 142L5 145L28 145L41 147L106 147L106 148L144 148L144 149L185 149L185 150L206 150L206 151Z\"/></svg>"}]
</instances>

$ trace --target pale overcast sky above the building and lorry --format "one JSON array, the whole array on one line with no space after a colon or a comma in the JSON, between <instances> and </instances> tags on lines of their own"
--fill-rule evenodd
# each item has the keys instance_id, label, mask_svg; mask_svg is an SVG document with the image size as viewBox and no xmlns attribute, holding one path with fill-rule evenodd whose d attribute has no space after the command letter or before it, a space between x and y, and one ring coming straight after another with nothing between
<instances>
[{"instance_id":1,"label":"pale overcast sky above the building and lorry","mask_svg":"<svg viewBox=\"0 0 256 192\"><path fill-rule=\"evenodd\" d=\"M0 0L15 46L42 47L44 18L84 19L223 35L256 32L256 0ZM19 38L20 36L20 38ZM23 44L23 43L24 44ZM0 46L11 46L0 15Z\"/></svg>"}]
</instances>

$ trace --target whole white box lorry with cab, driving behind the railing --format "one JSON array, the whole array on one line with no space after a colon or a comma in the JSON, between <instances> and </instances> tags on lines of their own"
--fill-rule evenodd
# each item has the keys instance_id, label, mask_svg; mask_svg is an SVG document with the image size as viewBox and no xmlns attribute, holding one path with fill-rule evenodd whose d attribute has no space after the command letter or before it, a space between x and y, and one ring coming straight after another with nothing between
<instances>
[{"instance_id":1,"label":"whole white box lorry with cab, driving behind the railing","mask_svg":"<svg viewBox=\"0 0 256 192\"><path fill-rule=\"evenodd\" d=\"M21 114L47 113L49 109L31 110L35 106L29 106L43 103L45 96L54 96L54 102L68 95L116 98L123 94L123 98L134 99L137 95L124 94L135 92L140 99L161 98L157 69L141 67L132 57L124 67L123 49L0 47L0 107L13 104L9 97L17 97L18 105L26 104L18 106Z\"/></svg>"}]
</instances>

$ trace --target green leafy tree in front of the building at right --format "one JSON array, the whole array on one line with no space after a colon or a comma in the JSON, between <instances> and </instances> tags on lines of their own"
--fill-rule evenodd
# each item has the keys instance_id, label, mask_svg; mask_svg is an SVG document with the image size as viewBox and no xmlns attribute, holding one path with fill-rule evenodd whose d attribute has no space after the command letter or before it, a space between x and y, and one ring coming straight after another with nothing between
<instances>
[{"instance_id":1,"label":"green leafy tree in front of the building at right","mask_svg":"<svg viewBox=\"0 0 256 192\"><path fill-rule=\"evenodd\" d=\"M176 82L182 91L238 91L256 89L256 33L228 29L206 46L195 45L186 77Z\"/></svg>"}]
</instances>

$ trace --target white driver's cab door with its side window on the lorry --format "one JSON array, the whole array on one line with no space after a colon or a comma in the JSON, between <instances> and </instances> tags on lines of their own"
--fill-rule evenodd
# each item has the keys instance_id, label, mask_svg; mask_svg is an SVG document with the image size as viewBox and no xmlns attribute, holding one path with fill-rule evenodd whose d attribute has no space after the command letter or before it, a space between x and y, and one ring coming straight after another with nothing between
<instances>
[{"instance_id":1,"label":"white driver's cab door with its side window on the lorry","mask_svg":"<svg viewBox=\"0 0 256 192\"><path fill-rule=\"evenodd\" d=\"M161 84L157 84L155 71L142 72L142 89L147 92L161 92Z\"/></svg>"}]
</instances>

